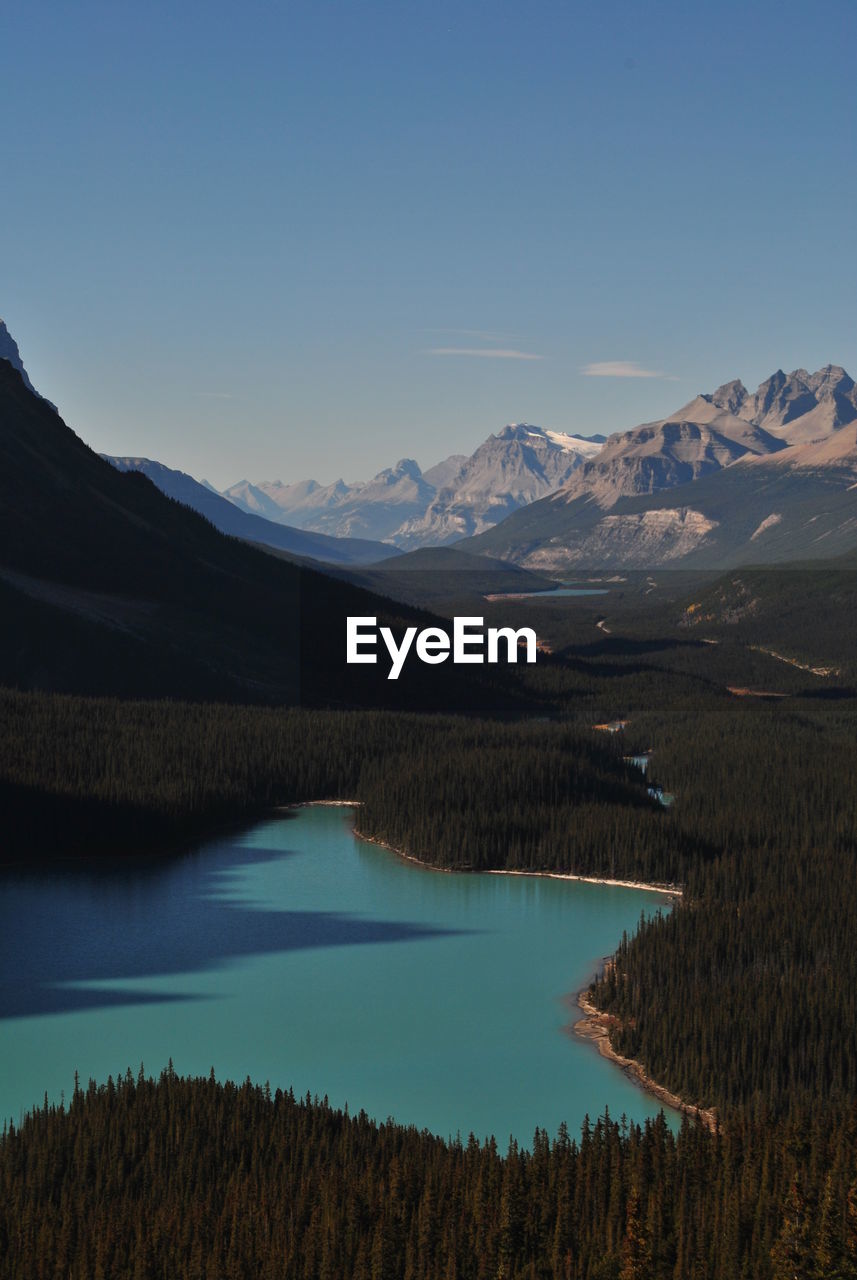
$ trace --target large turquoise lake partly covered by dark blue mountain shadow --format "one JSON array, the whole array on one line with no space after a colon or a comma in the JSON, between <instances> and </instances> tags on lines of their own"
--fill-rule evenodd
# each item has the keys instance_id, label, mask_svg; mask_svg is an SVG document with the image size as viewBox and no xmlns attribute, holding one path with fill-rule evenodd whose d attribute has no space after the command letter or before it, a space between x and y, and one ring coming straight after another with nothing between
<instances>
[{"instance_id":1,"label":"large turquoise lake partly covered by dark blue mountain shadow","mask_svg":"<svg viewBox=\"0 0 857 1280\"><path fill-rule=\"evenodd\" d=\"M448 1137L660 1105L569 1034L641 890L426 870L306 808L179 858L6 872L0 1117L92 1076L251 1076Z\"/></svg>"}]
</instances>

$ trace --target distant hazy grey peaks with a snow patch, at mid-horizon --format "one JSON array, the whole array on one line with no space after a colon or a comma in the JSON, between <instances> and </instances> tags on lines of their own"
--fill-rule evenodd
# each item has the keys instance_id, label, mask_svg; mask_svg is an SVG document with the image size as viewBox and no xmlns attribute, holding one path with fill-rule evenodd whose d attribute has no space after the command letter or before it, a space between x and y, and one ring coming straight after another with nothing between
<instances>
[{"instance_id":1,"label":"distant hazy grey peaks with a snow patch, at mid-horizon","mask_svg":"<svg viewBox=\"0 0 857 1280\"><path fill-rule=\"evenodd\" d=\"M402 458L368 481L240 480L224 497L246 512L298 529L380 539L411 550L490 529L567 484L602 443L602 436L586 439L513 422L469 457L454 454L427 471L413 458Z\"/></svg>"}]
</instances>

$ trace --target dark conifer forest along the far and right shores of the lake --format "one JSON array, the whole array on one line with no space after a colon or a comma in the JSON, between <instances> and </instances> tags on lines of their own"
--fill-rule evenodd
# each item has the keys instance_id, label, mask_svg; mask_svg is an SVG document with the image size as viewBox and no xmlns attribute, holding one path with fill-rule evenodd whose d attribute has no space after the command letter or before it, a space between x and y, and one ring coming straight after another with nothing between
<instances>
[{"instance_id":1,"label":"dark conifer forest along the far and right shores of the lake","mask_svg":"<svg viewBox=\"0 0 857 1280\"><path fill-rule=\"evenodd\" d=\"M719 649L692 652L719 671ZM787 687L806 678L747 658ZM577 690L567 716L509 723L9 692L8 856L177 847L347 797L362 832L439 867L678 882L682 906L596 988L617 1046L721 1110L857 1098L854 700L735 696L669 645L611 662L545 668L554 694ZM619 735L591 727L620 714ZM643 778L623 755L646 748Z\"/></svg>"}]
</instances>

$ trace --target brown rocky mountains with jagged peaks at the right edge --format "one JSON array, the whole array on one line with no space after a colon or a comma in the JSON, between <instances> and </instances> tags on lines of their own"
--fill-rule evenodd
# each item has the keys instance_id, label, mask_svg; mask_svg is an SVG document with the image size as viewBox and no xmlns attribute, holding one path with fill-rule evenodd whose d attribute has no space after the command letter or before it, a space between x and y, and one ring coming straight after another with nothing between
<instances>
[{"instance_id":1,"label":"brown rocky mountains with jagged peaks at the right edge","mask_svg":"<svg viewBox=\"0 0 857 1280\"><path fill-rule=\"evenodd\" d=\"M778 370L611 435L562 489L459 544L540 572L706 567L857 545L857 388Z\"/></svg>"}]
</instances>

